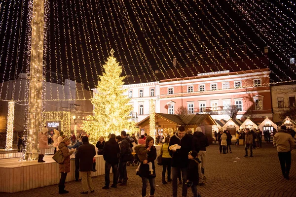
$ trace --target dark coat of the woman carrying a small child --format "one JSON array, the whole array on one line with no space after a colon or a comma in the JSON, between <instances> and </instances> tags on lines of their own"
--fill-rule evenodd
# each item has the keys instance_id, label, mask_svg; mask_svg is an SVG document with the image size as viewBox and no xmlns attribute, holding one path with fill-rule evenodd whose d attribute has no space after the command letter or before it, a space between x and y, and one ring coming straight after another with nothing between
<instances>
[{"instance_id":1,"label":"dark coat of the woman carrying a small child","mask_svg":"<svg viewBox=\"0 0 296 197\"><path fill-rule=\"evenodd\" d=\"M146 145L146 148L148 148L148 145ZM150 152L147 154L148 155L148 163L151 162L152 163L152 169L153 169L153 173L150 174L149 171L149 165L148 164L141 164L140 165L140 169L139 172L137 173L140 177L145 177L145 178L155 178L156 174L155 174L155 165L154 165L154 160L156 160L157 157L157 153L156 153L156 148L155 146L152 146L150 149Z\"/></svg>"}]
</instances>

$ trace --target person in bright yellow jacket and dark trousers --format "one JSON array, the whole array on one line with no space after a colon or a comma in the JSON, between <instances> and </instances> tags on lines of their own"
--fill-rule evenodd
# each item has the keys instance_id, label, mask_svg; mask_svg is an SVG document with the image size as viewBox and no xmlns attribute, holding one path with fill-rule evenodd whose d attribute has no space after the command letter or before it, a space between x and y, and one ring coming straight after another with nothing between
<instances>
[{"instance_id":1,"label":"person in bright yellow jacket and dark trousers","mask_svg":"<svg viewBox=\"0 0 296 197\"><path fill-rule=\"evenodd\" d=\"M169 147L169 141L170 138L166 137L164 139L164 143L162 144L162 146L160 147L160 151L159 154L162 154L161 156L161 160L162 160L162 184L167 184L168 182L172 182L171 179L171 165L172 165L172 157L170 156L170 153L168 151L168 147ZM165 181L165 173L166 170L168 170L168 182Z\"/></svg>"}]
</instances>

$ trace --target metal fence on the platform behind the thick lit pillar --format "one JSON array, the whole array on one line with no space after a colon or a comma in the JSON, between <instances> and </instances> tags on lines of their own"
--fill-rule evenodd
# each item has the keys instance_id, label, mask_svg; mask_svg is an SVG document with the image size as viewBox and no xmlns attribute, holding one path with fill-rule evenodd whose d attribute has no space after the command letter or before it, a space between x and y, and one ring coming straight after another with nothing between
<instances>
[{"instance_id":1,"label":"metal fence on the platform behind the thick lit pillar","mask_svg":"<svg viewBox=\"0 0 296 197\"><path fill-rule=\"evenodd\" d=\"M49 148L45 149L45 155L53 155L54 147L49 146ZM18 158L23 157L24 150L23 147L20 147L18 150L17 147L12 147L12 150L5 150L5 147L0 147L0 159L8 159L8 158Z\"/></svg>"}]
</instances>

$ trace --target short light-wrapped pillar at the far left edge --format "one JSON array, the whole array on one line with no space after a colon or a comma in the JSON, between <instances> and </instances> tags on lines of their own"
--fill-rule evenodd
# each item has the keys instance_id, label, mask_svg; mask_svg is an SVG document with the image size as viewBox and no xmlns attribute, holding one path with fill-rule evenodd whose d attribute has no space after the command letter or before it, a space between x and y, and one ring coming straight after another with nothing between
<instances>
[{"instance_id":1,"label":"short light-wrapped pillar at the far left edge","mask_svg":"<svg viewBox=\"0 0 296 197\"><path fill-rule=\"evenodd\" d=\"M13 142L14 102L8 102L7 131L5 150L12 150Z\"/></svg>"}]
</instances>

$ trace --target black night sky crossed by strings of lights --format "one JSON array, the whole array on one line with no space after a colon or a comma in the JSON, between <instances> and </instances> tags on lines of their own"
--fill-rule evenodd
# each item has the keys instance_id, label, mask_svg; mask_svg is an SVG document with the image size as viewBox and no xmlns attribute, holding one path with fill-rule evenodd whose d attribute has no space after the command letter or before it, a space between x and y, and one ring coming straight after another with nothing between
<instances>
[{"instance_id":1,"label":"black night sky crossed by strings of lights","mask_svg":"<svg viewBox=\"0 0 296 197\"><path fill-rule=\"evenodd\" d=\"M30 68L32 1L2 0L0 8L0 80L6 81ZM111 49L126 84L248 65L269 67L272 83L295 80L295 8L291 0L50 0L46 80L93 88ZM269 61L261 61L264 46Z\"/></svg>"}]
</instances>

